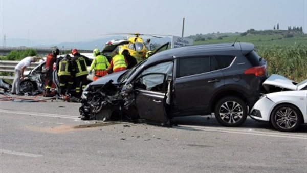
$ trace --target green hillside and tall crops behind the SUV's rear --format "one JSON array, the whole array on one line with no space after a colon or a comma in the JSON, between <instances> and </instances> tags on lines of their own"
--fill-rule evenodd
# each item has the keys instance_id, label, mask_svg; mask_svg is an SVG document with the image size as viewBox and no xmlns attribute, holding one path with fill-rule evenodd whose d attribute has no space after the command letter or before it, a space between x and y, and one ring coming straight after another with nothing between
<instances>
[{"instance_id":1,"label":"green hillside and tall crops behind the SUV's rear","mask_svg":"<svg viewBox=\"0 0 307 173\"><path fill-rule=\"evenodd\" d=\"M288 35L286 35L288 34ZM307 79L307 34L290 32L258 32L245 36L237 33L227 35L215 34L204 41L195 41L195 45L220 42L251 42L256 51L268 62L269 74L279 74L300 82ZM289 36L290 34L290 36Z\"/></svg>"}]
</instances>

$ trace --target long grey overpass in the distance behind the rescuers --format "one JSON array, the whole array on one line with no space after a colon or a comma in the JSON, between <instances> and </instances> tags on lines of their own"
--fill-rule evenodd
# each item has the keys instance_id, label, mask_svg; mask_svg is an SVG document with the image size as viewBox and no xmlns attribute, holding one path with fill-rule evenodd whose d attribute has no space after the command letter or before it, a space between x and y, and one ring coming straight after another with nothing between
<instances>
[{"instance_id":1,"label":"long grey overpass in the distance behind the rescuers","mask_svg":"<svg viewBox=\"0 0 307 173\"><path fill-rule=\"evenodd\" d=\"M34 49L37 51L38 55L40 56L45 56L47 54L49 54L54 48L42 48L42 47L3 47L0 46L0 56L5 56L7 54L9 54L11 51L24 51L26 49ZM61 49L58 48L60 50L60 52L70 52L71 49ZM92 53L93 50L82 50L82 49L78 49L79 52L84 52L84 53Z\"/></svg>"}]
</instances>

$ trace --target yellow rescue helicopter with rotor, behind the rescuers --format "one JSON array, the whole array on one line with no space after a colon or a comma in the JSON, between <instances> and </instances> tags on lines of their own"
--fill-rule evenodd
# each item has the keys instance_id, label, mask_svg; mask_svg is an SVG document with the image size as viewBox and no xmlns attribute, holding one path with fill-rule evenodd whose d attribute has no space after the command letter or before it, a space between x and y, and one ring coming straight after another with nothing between
<instances>
[{"instance_id":1,"label":"yellow rescue helicopter with rotor, behind the rescuers","mask_svg":"<svg viewBox=\"0 0 307 173\"><path fill-rule=\"evenodd\" d=\"M125 42L125 44L118 46L118 52L121 53L123 50L127 49L130 55L134 56L137 59L144 59L148 51L154 52L156 50L155 46L150 42L150 39L148 38L146 41L144 41L143 38L140 37L141 35L162 38L156 35L140 34L138 32L136 33L109 33L109 34L112 34L112 35L128 34L128 37L122 40L122 42ZM130 36L130 35L133 35L133 36ZM164 35L164 36L169 36L169 35Z\"/></svg>"}]
</instances>

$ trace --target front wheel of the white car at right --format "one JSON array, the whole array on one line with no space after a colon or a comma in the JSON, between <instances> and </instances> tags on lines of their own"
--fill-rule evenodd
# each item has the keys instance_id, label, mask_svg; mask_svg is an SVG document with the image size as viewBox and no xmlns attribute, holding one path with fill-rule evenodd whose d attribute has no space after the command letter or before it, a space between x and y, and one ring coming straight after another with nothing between
<instances>
[{"instance_id":1,"label":"front wheel of the white car at right","mask_svg":"<svg viewBox=\"0 0 307 173\"><path fill-rule=\"evenodd\" d=\"M292 104L280 104L273 109L270 121L278 131L294 132L302 122L302 113Z\"/></svg>"}]
</instances>

